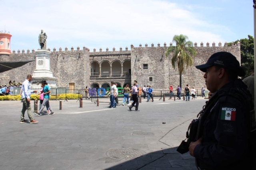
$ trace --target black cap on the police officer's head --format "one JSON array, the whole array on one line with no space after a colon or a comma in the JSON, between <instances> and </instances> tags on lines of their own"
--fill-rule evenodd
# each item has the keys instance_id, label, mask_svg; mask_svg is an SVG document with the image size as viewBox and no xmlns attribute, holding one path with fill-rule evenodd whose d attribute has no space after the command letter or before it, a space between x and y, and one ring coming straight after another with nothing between
<instances>
[{"instance_id":1,"label":"black cap on the police officer's head","mask_svg":"<svg viewBox=\"0 0 256 170\"><path fill-rule=\"evenodd\" d=\"M228 70L234 70L237 72L238 76L244 76L245 74L243 69L240 67L240 63L236 57L228 52L214 53L208 59L206 64L196 66L196 68L200 69L202 72L206 72L206 69L210 66L218 66Z\"/></svg>"}]
</instances>

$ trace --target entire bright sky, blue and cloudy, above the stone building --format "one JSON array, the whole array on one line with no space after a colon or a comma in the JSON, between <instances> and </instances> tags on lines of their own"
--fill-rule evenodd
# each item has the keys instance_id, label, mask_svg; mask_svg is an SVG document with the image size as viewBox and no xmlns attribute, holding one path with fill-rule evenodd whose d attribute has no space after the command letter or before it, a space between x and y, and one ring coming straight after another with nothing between
<instances>
[{"instance_id":1,"label":"entire bright sky, blue and cloudy, above the stone building","mask_svg":"<svg viewBox=\"0 0 256 170\"><path fill-rule=\"evenodd\" d=\"M11 50L86 46L119 50L133 44L169 45L176 34L210 46L253 35L252 0L0 0L0 30L12 34ZM254 35L253 35L254 36Z\"/></svg>"}]
</instances>

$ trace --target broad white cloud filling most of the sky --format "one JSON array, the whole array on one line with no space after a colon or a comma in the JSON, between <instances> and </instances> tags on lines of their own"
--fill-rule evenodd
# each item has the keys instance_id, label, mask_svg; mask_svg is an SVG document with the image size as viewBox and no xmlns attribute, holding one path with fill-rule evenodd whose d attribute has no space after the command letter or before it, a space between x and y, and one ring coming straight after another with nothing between
<instances>
[{"instance_id":1,"label":"broad white cloud filling most of the sky","mask_svg":"<svg viewBox=\"0 0 256 170\"><path fill-rule=\"evenodd\" d=\"M2 5L8 15L1 18L1 23L13 35L15 50L37 49L41 29L47 33L51 49L85 45L91 51L100 47L130 49L131 43L135 47L158 42L163 46L175 34L188 35L198 44L224 43L220 32L231 32L228 27L198 19L202 18L198 17L200 13L160 0L4 0Z\"/></svg>"}]
</instances>

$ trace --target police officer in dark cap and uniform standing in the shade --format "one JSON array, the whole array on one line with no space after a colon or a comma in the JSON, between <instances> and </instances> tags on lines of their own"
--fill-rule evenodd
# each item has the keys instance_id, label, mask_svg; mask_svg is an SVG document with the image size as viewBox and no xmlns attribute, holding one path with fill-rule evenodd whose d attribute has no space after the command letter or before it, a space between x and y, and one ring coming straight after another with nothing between
<instances>
[{"instance_id":1,"label":"police officer in dark cap and uniform standing in the shade","mask_svg":"<svg viewBox=\"0 0 256 170\"><path fill-rule=\"evenodd\" d=\"M238 76L245 72L228 52L214 53L205 72L212 96L200 116L196 141L189 152L201 170L255 170L256 122L252 98Z\"/></svg>"}]
</instances>

